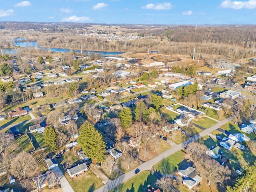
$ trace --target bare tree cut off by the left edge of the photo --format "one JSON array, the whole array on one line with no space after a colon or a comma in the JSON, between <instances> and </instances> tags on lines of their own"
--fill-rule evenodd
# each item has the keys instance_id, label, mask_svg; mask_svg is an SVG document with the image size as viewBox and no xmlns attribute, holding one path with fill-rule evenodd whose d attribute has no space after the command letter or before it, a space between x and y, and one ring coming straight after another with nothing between
<instances>
[{"instance_id":1,"label":"bare tree cut off by the left edge of the photo","mask_svg":"<svg viewBox=\"0 0 256 192\"><path fill-rule=\"evenodd\" d=\"M8 152L8 150L14 148L14 138L12 134L0 133L0 155Z\"/></svg>"}]
</instances>

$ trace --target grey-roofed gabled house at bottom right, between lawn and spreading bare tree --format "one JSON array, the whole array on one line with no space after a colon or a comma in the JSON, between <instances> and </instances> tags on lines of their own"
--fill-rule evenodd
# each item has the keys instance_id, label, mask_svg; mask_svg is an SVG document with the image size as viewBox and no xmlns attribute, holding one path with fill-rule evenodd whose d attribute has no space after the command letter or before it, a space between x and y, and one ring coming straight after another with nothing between
<instances>
[{"instance_id":1,"label":"grey-roofed gabled house at bottom right, between lawn and spreading bare tree","mask_svg":"<svg viewBox=\"0 0 256 192\"><path fill-rule=\"evenodd\" d=\"M189 165L178 170L178 174L182 176L182 184L187 186L190 190L202 181L202 178L198 175L196 168Z\"/></svg>"}]
</instances>

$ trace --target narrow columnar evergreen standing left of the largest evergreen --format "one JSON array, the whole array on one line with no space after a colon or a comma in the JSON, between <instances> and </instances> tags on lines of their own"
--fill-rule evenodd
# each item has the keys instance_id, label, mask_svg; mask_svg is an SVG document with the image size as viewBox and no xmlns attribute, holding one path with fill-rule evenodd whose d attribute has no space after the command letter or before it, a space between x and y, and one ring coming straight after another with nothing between
<instances>
[{"instance_id":1,"label":"narrow columnar evergreen standing left of the largest evergreen","mask_svg":"<svg viewBox=\"0 0 256 192\"><path fill-rule=\"evenodd\" d=\"M57 151L58 150L58 133L53 126L48 126L44 129L44 143L47 146L47 150Z\"/></svg>"}]
</instances>

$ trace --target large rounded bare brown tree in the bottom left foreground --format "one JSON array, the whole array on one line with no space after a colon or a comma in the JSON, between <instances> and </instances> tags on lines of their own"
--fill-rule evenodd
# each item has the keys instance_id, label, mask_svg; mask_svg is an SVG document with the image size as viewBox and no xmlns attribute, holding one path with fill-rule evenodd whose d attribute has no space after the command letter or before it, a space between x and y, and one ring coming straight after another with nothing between
<instances>
[{"instance_id":1,"label":"large rounded bare brown tree in the bottom left foreground","mask_svg":"<svg viewBox=\"0 0 256 192\"><path fill-rule=\"evenodd\" d=\"M26 179L36 169L36 159L27 152L20 152L12 161L12 171L19 180Z\"/></svg>"}]
</instances>

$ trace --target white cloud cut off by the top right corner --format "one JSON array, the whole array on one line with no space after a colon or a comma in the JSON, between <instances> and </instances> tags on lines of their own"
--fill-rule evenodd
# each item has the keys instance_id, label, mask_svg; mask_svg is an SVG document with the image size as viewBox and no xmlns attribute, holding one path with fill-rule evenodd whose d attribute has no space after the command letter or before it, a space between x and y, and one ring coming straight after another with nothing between
<instances>
[{"instance_id":1,"label":"white cloud cut off by the top right corner","mask_svg":"<svg viewBox=\"0 0 256 192\"><path fill-rule=\"evenodd\" d=\"M225 1L222 1L220 6L225 9L242 9L242 8L254 9L256 8L256 0L249 0L249 1L225 0Z\"/></svg>"}]
</instances>

